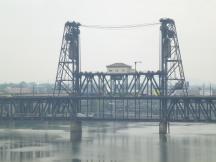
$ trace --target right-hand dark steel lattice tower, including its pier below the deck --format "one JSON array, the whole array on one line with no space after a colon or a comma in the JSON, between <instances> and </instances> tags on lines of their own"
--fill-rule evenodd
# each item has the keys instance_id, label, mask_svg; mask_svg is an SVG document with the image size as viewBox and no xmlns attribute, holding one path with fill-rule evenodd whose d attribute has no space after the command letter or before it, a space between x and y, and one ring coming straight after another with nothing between
<instances>
[{"instance_id":1,"label":"right-hand dark steel lattice tower, including its pier below the deck","mask_svg":"<svg viewBox=\"0 0 216 162\"><path fill-rule=\"evenodd\" d=\"M161 96L161 122L160 133L167 133L167 100L166 96L187 95L187 86L179 49L175 22L172 19L160 19L161 22L161 52L160 52L160 78Z\"/></svg>"}]
</instances>

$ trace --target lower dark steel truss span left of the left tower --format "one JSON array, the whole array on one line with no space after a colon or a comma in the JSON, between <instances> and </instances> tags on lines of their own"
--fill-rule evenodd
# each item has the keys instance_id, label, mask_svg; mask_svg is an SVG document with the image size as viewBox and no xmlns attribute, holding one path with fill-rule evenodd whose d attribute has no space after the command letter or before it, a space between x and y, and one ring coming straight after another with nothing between
<instances>
[{"instance_id":1,"label":"lower dark steel truss span left of the left tower","mask_svg":"<svg viewBox=\"0 0 216 162\"><path fill-rule=\"evenodd\" d=\"M9 118L46 118L75 114L77 102L65 97L11 97L0 101L0 116Z\"/></svg>"}]
</instances>

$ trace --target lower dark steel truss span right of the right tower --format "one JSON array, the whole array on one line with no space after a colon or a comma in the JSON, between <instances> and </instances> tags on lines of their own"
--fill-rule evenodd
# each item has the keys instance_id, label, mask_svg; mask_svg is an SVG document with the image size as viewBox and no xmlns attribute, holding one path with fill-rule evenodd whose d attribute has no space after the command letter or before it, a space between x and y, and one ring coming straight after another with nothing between
<instances>
[{"instance_id":1,"label":"lower dark steel truss span right of the right tower","mask_svg":"<svg viewBox=\"0 0 216 162\"><path fill-rule=\"evenodd\" d=\"M185 97L170 100L167 118L172 120L216 121L216 99Z\"/></svg>"}]
</instances>

